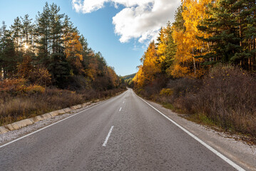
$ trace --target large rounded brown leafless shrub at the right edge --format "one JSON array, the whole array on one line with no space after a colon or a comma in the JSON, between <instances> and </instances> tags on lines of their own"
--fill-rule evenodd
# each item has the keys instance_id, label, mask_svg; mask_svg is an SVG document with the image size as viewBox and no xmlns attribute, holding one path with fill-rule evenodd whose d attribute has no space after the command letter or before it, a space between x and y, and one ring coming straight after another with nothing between
<instances>
[{"instance_id":1,"label":"large rounded brown leafless shrub at the right edge","mask_svg":"<svg viewBox=\"0 0 256 171\"><path fill-rule=\"evenodd\" d=\"M195 105L222 128L256 137L256 80L246 71L215 66L205 77Z\"/></svg>"}]
</instances>

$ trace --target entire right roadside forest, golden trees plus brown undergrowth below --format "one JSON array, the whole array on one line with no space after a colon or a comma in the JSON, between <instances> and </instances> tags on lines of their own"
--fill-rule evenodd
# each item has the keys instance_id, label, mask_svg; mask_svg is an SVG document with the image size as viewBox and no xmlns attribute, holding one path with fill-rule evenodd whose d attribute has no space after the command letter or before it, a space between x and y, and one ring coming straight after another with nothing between
<instances>
[{"instance_id":1,"label":"entire right roadside forest, golden trees plus brown undergrowth below","mask_svg":"<svg viewBox=\"0 0 256 171\"><path fill-rule=\"evenodd\" d=\"M255 0L183 0L140 61L138 94L255 141Z\"/></svg>"}]
</instances>

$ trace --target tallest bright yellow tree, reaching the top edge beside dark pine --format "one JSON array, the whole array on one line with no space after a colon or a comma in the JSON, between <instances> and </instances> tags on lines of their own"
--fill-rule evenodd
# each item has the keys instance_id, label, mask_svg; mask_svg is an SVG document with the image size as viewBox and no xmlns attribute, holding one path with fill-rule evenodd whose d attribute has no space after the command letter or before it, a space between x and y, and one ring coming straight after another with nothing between
<instances>
[{"instance_id":1,"label":"tallest bright yellow tree, reaching the top edge beside dark pine","mask_svg":"<svg viewBox=\"0 0 256 171\"><path fill-rule=\"evenodd\" d=\"M205 13L208 3L210 0L183 0L182 16L185 21L185 31L173 26L173 39L178 49L174 66L168 69L168 73L175 78L186 75L200 77L203 74L203 68L200 67L203 58L195 58L195 56L203 55L208 45L197 37L207 38L209 35L199 31L197 26L200 21L210 17Z\"/></svg>"}]
</instances>

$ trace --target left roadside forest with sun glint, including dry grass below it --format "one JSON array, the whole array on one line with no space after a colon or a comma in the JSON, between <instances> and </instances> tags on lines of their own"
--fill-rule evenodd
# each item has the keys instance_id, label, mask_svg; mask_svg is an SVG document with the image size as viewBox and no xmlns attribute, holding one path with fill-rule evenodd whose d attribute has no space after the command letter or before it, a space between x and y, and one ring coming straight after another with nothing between
<instances>
[{"instance_id":1,"label":"left roadside forest with sun glint, including dry grass below it","mask_svg":"<svg viewBox=\"0 0 256 171\"><path fill-rule=\"evenodd\" d=\"M121 78L56 4L0 28L0 125L106 98ZM125 86L124 86L125 87Z\"/></svg>"}]
</instances>

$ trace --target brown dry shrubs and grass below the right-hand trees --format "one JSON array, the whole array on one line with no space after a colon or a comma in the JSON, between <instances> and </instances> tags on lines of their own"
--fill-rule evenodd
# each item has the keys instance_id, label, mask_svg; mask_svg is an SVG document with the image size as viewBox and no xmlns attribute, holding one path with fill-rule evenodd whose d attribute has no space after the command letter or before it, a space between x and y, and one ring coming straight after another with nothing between
<instances>
[{"instance_id":1,"label":"brown dry shrubs and grass below the right-hand trees","mask_svg":"<svg viewBox=\"0 0 256 171\"><path fill-rule=\"evenodd\" d=\"M203 80L182 78L169 81L165 88L171 94L140 90L140 95L163 105L172 104L172 109L190 114L198 123L250 135L256 142L256 79L250 73L220 65Z\"/></svg>"}]
</instances>

